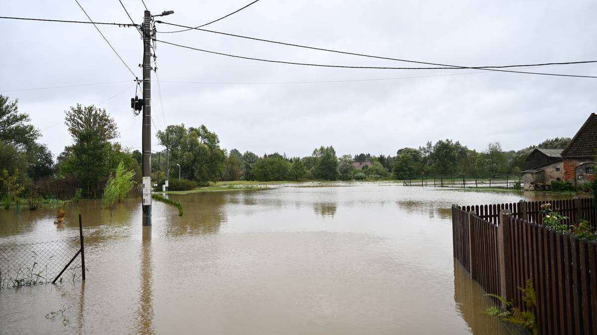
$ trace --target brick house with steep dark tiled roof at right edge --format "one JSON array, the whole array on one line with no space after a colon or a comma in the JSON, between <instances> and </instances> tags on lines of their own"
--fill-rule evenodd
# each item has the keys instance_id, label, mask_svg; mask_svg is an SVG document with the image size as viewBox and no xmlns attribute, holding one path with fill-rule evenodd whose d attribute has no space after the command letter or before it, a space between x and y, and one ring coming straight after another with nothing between
<instances>
[{"instance_id":1,"label":"brick house with steep dark tiled roof at right edge","mask_svg":"<svg viewBox=\"0 0 597 335\"><path fill-rule=\"evenodd\" d=\"M597 115L592 113L562 152L564 181L573 185L595 179Z\"/></svg>"}]
</instances>

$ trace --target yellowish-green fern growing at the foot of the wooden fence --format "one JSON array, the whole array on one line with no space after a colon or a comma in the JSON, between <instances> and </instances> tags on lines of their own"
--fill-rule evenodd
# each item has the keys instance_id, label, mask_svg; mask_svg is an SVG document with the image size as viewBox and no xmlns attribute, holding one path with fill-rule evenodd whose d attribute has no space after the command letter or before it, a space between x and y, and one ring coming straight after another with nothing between
<instances>
[{"instance_id":1,"label":"yellowish-green fern growing at the foot of the wooden fence","mask_svg":"<svg viewBox=\"0 0 597 335\"><path fill-rule=\"evenodd\" d=\"M519 325L531 331L534 335L537 335L539 333L537 320L535 314L530 311L531 308L534 308L537 305L537 294L533 287L533 281L527 279L525 288L522 289L521 287L518 287L518 289L522 292L522 300L524 300L525 305L527 305L527 311L522 311L518 307L513 307L513 303L502 296L498 296L497 294L485 294L486 296L500 300L507 306L507 308L501 309L498 306L491 306L486 308L483 314L498 318L502 321L510 322L511 324Z\"/></svg>"}]
</instances>

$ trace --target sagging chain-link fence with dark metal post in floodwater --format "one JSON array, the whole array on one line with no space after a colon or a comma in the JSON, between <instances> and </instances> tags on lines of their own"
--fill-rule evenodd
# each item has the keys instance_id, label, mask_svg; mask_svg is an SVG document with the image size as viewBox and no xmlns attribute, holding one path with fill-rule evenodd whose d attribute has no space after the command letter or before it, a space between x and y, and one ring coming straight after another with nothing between
<instances>
[{"instance_id":1,"label":"sagging chain-link fence with dark metal post in floodwater","mask_svg":"<svg viewBox=\"0 0 597 335\"><path fill-rule=\"evenodd\" d=\"M0 289L52 283L54 279L78 280L82 277L80 249L79 236L30 244L0 244Z\"/></svg>"}]
</instances>

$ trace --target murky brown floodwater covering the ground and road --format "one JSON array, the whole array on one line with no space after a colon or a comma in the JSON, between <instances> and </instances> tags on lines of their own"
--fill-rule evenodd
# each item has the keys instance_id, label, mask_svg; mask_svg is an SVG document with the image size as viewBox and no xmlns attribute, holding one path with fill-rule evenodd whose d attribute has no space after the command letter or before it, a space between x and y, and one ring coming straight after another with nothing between
<instances>
[{"instance_id":1,"label":"murky brown floodwater covering the ground and road","mask_svg":"<svg viewBox=\"0 0 597 335\"><path fill-rule=\"evenodd\" d=\"M507 334L452 253L450 206L533 198L354 183L0 210L0 244L84 222L87 280L0 290L0 333ZM47 320L65 309L69 321Z\"/></svg>"}]
</instances>

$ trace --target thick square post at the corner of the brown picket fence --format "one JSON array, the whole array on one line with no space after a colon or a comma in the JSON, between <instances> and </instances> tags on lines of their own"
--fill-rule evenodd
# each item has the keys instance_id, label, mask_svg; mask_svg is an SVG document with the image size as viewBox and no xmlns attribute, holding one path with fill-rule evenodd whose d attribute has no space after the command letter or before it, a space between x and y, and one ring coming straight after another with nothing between
<instances>
[{"instance_id":1,"label":"thick square post at the corner of the brown picket fence","mask_svg":"<svg viewBox=\"0 0 597 335\"><path fill-rule=\"evenodd\" d=\"M500 295L506 300L512 299L512 253L510 252L510 218L512 211L500 210L500 224L497 226L497 252L500 266ZM501 302L501 307L506 308L506 303Z\"/></svg>"}]
</instances>

